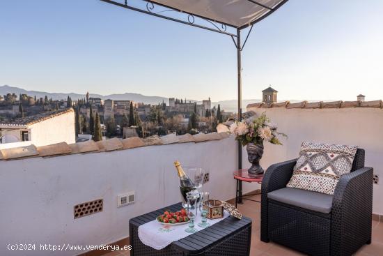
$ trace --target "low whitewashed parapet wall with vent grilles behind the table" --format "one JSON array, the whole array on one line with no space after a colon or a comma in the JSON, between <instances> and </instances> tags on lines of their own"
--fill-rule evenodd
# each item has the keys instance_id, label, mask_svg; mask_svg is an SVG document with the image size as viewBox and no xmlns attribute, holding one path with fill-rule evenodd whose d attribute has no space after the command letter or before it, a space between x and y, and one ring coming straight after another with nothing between
<instances>
[{"instance_id":1,"label":"low whitewashed parapet wall with vent grilles behind the table","mask_svg":"<svg viewBox=\"0 0 383 256\"><path fill-rule=\"evenodd\" d=\"M85 246L129 236L130 218L180 201L174 160L210 172L205 189L212 197L233 198L236 151L237 144L229 137L197 144L1 161L0 255L24 255L10 254L8 243ZM246 185L245 191L259 188ZM117 195L131 190L136 192L136 203L117 208ZM73 219L75 204L99 198L104 199L104 211ZM49 253L36 250L28 255Z\"/></svg>"}]
</instances>

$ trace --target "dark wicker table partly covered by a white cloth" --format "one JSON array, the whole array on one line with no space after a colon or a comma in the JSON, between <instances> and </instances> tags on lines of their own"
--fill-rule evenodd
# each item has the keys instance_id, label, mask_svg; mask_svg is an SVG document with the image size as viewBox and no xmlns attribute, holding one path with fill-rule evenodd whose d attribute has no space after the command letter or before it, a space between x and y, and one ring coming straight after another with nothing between
<instances>
[{"instance_id":1,"label":"dark wicker table partly covered by a white cloth","mask_svg":"<svg viewBox=\"0 0 383 256\"><path fill-rule=\"evenodd\" d=\"M166 209L179 211L181 203L146 213L129 222L130 255L198 255L198 256L244 256L250 254L251 219L245 216L241 220L229 216L210 227L171 243L162 250L155 250L141 243L138 235L139 226L155 220Z\"/></svg>"}]
</instances>

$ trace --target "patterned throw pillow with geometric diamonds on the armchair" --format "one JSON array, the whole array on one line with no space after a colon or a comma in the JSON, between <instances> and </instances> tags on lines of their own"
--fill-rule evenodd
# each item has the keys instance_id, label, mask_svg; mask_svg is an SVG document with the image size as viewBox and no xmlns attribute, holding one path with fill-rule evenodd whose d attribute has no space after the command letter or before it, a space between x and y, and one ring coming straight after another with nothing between
<instances>
[{"instance_id":1,"label":"patterned throw pillow with geometric diamonds on the armchair","mask_svg":"<svg viewBox=\"0 0 383 256\"><path fill-rule=\"evenodd\" d=\"M339 177L350 173L357 146L303 142L287 186L334 195Z\"/></svg>"}]
</instances>

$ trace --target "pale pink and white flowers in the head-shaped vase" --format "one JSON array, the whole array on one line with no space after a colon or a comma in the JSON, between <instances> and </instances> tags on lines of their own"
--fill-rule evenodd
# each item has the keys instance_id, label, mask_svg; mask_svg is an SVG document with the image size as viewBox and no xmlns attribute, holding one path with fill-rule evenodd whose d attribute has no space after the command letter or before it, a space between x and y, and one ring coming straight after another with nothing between
<instances>
[{"instance_id":1,"label":"pale pink and white flowers in the head-shaped vase","mask_svg":"<svg viewBox=\"0 0 383 256\"><path fill-rule=\"evenodd\" d=\"M287 137L286 134L277 131L276 125L270 122L265 113L250 123L245 120L235 121L230 126L230 133L235 135L235 140L240 141L242 146L248 143L263 144L263 141L281 145L277 136Z\"/></svg>"}]
</instances>

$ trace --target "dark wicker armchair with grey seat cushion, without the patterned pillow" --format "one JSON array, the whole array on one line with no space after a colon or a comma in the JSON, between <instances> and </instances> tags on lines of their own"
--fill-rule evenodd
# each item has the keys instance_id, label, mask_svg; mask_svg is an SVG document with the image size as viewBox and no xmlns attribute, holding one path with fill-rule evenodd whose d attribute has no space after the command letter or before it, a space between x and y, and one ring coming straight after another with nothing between
<instances>
[{"instance_id":1,"label":"dark wicker armchair with grey seat cushion, without the patterned pillow","mask_svg":"<svg viewBox=\"0 0 383 256\"><path fill-rule=\"evenodd\" d=\"M286 188L295 163L271 165L265 172L260 240L309 255L352 255L370 243L373 168L364 167L364 149L357 150L350 174L341 176L334 195Z\"/></svg>"}]
</instances>

